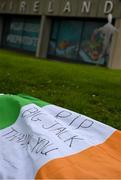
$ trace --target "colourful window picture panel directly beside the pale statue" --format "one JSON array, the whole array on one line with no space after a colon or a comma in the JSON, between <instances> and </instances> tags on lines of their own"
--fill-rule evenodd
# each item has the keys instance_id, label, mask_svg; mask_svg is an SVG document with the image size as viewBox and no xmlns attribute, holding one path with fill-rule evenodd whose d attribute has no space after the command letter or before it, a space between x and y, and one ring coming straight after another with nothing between
<instances>
[{"instance_id":1,"label":"colourful window picture panel directly beside the pale statue","mask_svg":"<svg viewBox=\"0 0 121 180\"><path fill-rule=\"evenodd\" d=\"M79 50L79 58L84 62L92 64L97 64L99 62L99 64L102 65L105 63L104 57L100 59L103 50L104 35L100 32L95 33L96 29L101 25L102 23L85 23Z\"/></svg>"}]
</instances>

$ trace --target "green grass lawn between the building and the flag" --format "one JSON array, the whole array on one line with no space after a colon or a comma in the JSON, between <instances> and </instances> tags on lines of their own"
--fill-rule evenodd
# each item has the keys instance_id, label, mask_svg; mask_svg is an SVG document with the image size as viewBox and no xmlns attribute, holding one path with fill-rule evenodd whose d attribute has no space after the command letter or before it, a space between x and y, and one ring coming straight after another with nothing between
<instances>
[{"instance_id":1,"label":"green grass lawn between the building and the flag","mask_svg":"<svg viewBox=\"0 0 121 180\"><path fill-rule=\"evenodd\" d=\"M121 70L0 50L0 93L34 96L121 129Z\"/></svg>"}]
</instances>

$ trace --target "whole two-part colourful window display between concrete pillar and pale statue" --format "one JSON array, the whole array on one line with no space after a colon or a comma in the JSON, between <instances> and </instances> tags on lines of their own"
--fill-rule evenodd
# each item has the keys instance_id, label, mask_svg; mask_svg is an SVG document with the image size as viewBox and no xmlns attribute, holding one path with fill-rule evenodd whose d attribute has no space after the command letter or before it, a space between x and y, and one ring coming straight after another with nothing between
<instances>
[{"instance_id":1,"label":"whole two-part colourful window display between concrete pillar and pale statue","mask_svg":"<svg viewBox=\"0 0 121 180\"><path fill-rule=\"evenodd\" d=\"M102 33L95 30L105 22L55 22L49 44L49 55L96 64L103 48ZM100 60L104 64L105 59Z\"/></svg>"}]
</instances>

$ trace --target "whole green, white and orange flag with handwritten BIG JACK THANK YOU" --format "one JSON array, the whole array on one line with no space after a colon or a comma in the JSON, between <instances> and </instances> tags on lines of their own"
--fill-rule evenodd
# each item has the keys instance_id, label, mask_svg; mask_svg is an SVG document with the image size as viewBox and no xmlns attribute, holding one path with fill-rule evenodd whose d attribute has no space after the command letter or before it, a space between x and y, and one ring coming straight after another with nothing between
<instances>
[{"instance_id":1,"label":"whole green, white and orange flag with handwritten BIG JACK THANK YOU","mask_svg":"<svg viewBox=\"0 0 121 180\"><path fill-rule=\"evenodd\" d=\"M0 179L121 179L121 132L35 98L1 95Z\"/></svg>"}]
</instances>

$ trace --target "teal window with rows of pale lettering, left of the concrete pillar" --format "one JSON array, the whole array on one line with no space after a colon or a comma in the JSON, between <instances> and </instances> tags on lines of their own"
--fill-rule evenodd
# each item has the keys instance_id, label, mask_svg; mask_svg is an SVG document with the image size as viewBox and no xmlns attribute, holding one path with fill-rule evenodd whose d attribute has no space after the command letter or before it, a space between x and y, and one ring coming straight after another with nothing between
<instances>
[{"instance_id":1,"label":"teal window with rows of pale lettering, left of the concrete pillar","mask_svg":"<svg viewBox=\"0 0 121 180\"><path fill-rule=\"evenodd\" d=\"M40 23L38 20L12 19L5 45L11 48L36 51Z\"/></svg>"}]
</instances>

